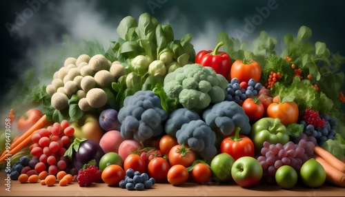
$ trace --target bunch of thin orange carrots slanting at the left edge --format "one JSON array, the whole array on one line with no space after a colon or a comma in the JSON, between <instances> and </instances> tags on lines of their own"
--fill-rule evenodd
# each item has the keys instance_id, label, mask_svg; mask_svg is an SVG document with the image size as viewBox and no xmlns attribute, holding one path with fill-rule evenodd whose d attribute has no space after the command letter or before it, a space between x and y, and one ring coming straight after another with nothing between
<instances>
[{"instance_id":1,"label":"bunch of thin orange carrots slanting at the left edge","mask_svg":"<svg viewBox=\"0 0 345 197\"><path fill-rule=\"evenodd\" d=\"M17 141L14 141L11 145L10 145L10 152L3 152L3 154L1 155L0 158L0 163L3 162L3 160L5 160L5 158L7 158L6 154L15 154L17 152L19 152L21 149L23 149L23 147L26 147L30 144L31 142L31 135L37 130L37 129L41 129L43 127L46 127L47 125L49 125L51 122L47 121L46 119L46 115L42 116L39 121L37 121L37 123L34 123L34 125L28 129L28 131L26 131L23 135L21 135Z\"/></svg>"}]
</instances>

